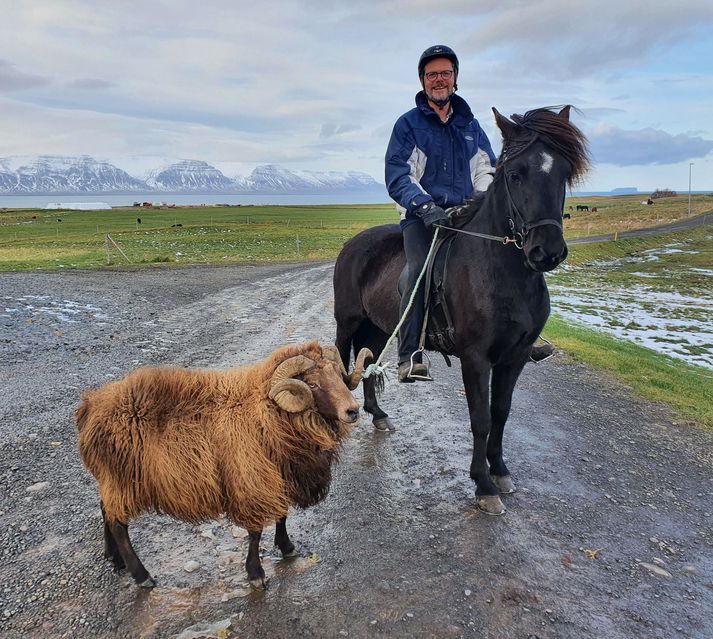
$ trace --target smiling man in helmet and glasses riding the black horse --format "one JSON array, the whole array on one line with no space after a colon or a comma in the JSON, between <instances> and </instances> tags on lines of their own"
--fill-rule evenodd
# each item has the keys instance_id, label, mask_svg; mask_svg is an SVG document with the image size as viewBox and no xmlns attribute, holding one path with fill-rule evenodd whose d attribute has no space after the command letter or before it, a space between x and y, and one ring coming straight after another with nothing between
<instances>
[{"instance_id":1,"label":"smiling man in helmet and glasses riding the black horse","mask_svg":"<svg viewBox=\"0 0 713 639\"><path fill-rule=\"evenodd\" d=\"M447 225L444 209L462 204L493 181L495 155L466 101L455 95L458 58L435 45L418 61L422 90L416 107L394 125L386 151L386 188L401 213L406 269L401 315L423 268L434 225ZM423 286L399 331L399 381L430 381L418 351L424 318Z\"/></svg>"}]
</instances>

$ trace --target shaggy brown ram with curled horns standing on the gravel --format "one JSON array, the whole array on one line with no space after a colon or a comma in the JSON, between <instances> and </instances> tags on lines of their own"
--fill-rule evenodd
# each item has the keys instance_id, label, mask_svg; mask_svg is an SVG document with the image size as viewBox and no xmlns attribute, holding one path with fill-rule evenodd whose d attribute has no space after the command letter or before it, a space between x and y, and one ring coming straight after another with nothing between
<instances>
[{"instance_id":1,"label":"shaggy brown ram with curled horns standing on the gravel","mask_svg":"<svg viewBox=\"0 0 713 639\"><path fill-rule=\"evenodd\" d=\"M153 587L129 521L150 510L189 522L226 513L248 530L248 578L264 587L262 529L276 521L275 544L295 554L288 509L326 496L359 417L349 391L366 357L364 349L349 375L333 346L310 342L242 368L143 368L87 391L76 413L79 453L99 486L105 556Z\"/></svg>"}]
</instances>

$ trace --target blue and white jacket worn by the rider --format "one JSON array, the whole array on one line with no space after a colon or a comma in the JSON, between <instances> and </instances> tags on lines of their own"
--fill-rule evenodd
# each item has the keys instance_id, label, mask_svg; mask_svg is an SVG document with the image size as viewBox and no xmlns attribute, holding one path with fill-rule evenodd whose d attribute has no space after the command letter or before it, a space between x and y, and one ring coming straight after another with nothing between
<instances>
[{"instance_id":1,"label":"blue and white jacket worn by the rider","mask_svg":"<svg viewBox=\"0 0 713 639\"><path fill-rule=\"evenodd\" d=\"M416 107L394 125L386 150L386 188L402 227L416 221L413 211L425 202L456 206L493 181L496 160L488 136L463 98L453 95L451 109L448 121L441 122L419 91Z\"/></svg>"}]
</instances>

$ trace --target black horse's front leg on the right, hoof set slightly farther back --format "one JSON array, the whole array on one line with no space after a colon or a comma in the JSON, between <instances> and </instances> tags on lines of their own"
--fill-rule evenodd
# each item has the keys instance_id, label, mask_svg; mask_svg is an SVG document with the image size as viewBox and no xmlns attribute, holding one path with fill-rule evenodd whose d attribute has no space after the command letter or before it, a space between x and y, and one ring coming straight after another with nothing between
<instances>
[{"instance_id":1,"label":"black horse's front leg on the right, hoof set slightly farther back","mask_svg":"<svg viewBox=\"0 0 713 639\"><path fill-rule=\"evenodd\" d=\"M515 492L510 471L503 461L503 431L510 414L512 393L524 364L509 364L493 368L490 383L490 437L488 437L488 464L490 477L501 493Z\"/></svg>"}]
</instances>

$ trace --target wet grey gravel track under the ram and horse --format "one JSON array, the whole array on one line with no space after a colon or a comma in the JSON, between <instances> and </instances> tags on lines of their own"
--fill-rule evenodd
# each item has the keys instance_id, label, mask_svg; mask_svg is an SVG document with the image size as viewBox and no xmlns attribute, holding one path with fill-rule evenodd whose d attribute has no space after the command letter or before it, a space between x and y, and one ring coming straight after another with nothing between
<instances>
[{"instance_id":1,"label":"wet grey gravel track under the ram and horse","mask_svg":"<svg viewBox=\"0 0 713 639\"><path fill-rule=\"evenodd\" d=\"M142 517L134 546L159 586L113 574L75 448L81 391L139 364L330 341L331 269L0 275L0 636L713 636L713 436L562 355L518 385L502 517L474 508L458 363L434 356L434 383L387 384L397 430L363 417L330 496L288 520L302 556L264 537L266 592L246 587L243 531L224 521Z\"/></svg>"}]
</instances>

